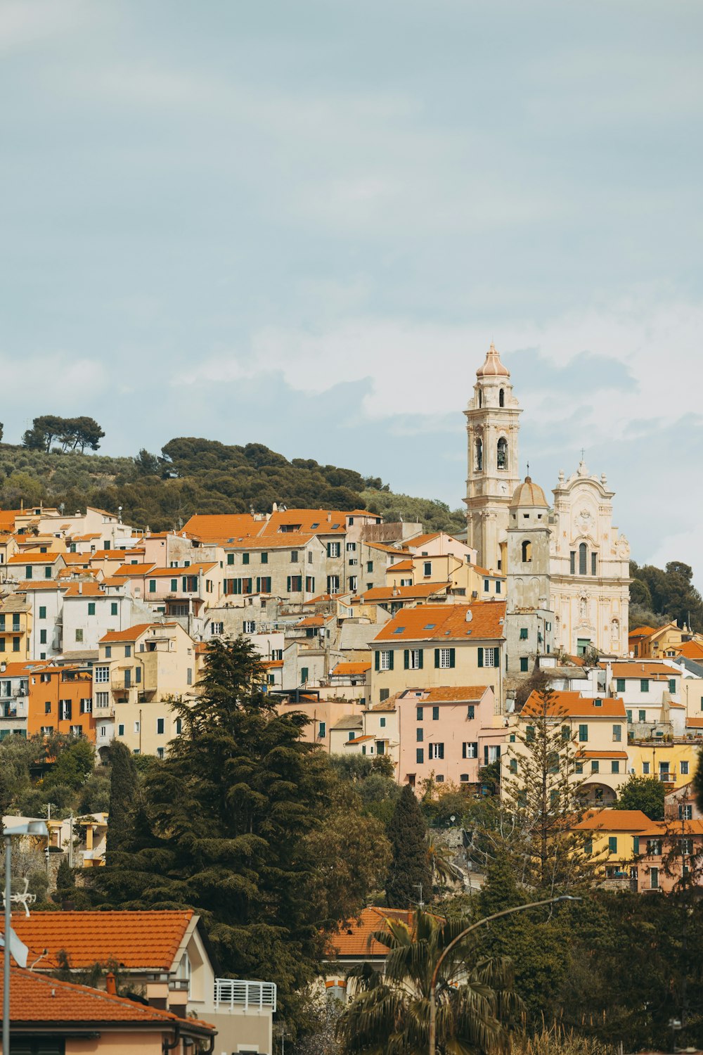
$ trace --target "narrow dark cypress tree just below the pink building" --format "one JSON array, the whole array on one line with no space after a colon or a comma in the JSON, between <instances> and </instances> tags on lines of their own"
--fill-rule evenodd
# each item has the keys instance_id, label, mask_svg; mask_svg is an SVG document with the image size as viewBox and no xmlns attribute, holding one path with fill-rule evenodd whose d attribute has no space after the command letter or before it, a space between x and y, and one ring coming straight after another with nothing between
<instances>
[{"instance_id":1,"label":"narrow dark cypress tree just below the pink building","mask_svg":"<svg viewBox=\"0 0 703 1055\"><path fill-rule=\"evenodd\" d=\"M432 876L425 821L409 784L396 803L388 835L393 857L386 879L386 904L391 908L410 908L421 900L421 894L423 900L429 900Z\"/></svg>"}]
</instances>

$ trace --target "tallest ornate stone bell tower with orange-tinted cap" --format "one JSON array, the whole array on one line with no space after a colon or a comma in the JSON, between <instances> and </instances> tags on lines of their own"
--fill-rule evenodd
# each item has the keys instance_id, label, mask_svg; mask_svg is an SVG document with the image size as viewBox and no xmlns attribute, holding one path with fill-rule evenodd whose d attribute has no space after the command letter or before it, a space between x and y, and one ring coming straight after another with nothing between
<instances>
[{"instance_id":1,"label":"tallest ornate stone bell tower with orange-tinted cap","mask_svg":"<svg viewBox=\"0 0 703 1055\"><path fill-rule=\"evenodd\" d=\"M491 344L476 370L473 399L464 411L468 438L467 542L483 568L506 571L509 506L520 482L518 434L522 408L510 371Z\"/></svg>"}]
</instances>

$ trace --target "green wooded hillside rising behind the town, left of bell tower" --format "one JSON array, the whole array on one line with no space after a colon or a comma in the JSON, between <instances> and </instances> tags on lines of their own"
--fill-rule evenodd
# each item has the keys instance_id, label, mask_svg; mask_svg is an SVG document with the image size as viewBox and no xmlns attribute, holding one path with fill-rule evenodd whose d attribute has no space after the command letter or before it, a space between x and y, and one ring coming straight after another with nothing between
<instances>
[{"instance_id":1,"label":"green wooded hillside rising behind the town, left of bell tower","mask_svg":"<svg viewBox=\"0 0 703 1055\"><path fill-rule=\"evenodd\" d=\"M135 528L178 528L194 513L257 513L288 506L369 509L387 518L418 520L427 530L461 530L465 517L443 502L394 495L380 479L354 469L282 455L259 443L170 440L159 456L136 457L28 449L0 443L0 507L96 505Z\"/></svg>"}]
</instances>

